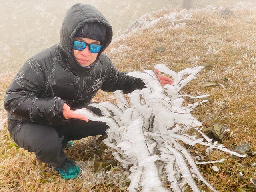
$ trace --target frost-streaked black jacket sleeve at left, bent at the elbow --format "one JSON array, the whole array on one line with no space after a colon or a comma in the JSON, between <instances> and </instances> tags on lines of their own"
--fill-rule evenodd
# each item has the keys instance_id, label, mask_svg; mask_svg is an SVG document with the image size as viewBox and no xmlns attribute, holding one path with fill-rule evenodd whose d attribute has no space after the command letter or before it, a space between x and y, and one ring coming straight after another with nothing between
<instances>
[{"instance_id":1,"label":"frost-streaked black jacket sleeve at left, bent at the elbow","mask_svg":"<svg viewBox=\"0 0 256 192\"><path fill-rule=\"evenodd\" d=\"M43 71L36 60L28 60L6 90L4 108L12 115L40 124L62 122L64 100L40 98L45 88Z\"/></svg>"}]
</instances>

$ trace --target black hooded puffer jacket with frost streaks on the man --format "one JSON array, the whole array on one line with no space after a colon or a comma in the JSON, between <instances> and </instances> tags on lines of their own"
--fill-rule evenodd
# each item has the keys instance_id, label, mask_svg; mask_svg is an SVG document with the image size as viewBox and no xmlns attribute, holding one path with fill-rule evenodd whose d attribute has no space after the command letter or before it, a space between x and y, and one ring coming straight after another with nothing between
<instances>
[{"instance_id":1,"label":"black hooded puffer jacket with frost streaks on the man","mask_svg":"<svg viewBox=\"0 0 256 192\"><path fill-rule=\"evenodd\" d=\"M106 39L94 63L80 65L73 54L76 31L86 22L99 22L106 27ZM9 121L22 119L48 125L61 125L66 102L72 110L86 107L96 92L144 87L142 80L118 71L102 52L112 40L112 27L94 6L76 4L66 13L60 43L32 56L18 71L6 90L4 108Z\"/></svg>"}]
</instances>

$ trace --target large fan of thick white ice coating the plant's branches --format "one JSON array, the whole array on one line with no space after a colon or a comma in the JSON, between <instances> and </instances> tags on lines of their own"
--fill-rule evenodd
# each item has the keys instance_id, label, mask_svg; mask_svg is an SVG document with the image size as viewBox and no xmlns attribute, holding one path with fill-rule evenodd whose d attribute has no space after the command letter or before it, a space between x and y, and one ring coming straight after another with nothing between
<instances>
[{"instance_id":1,"label":"large fan of thick white ice coating the plant's branches","mask_svg":"<svg viewBox=\"0 0 256 192\"><path fill-rule=\"evenodd\" d=\"M217 192L198 169L200 162L195 162L194 157L180 144L180 141L190 146L201 144L244 157L223 145L212 143L212 139L200 131L202 123L190 112L205 100L188 105L183 103L187 96L194 99L208 96L180 94L180 90L196 78L203 67L194 66L180 72L170 70L165 65L156 65L155 68L170 75L174 84L162 87L153 70L130 72L128 75L141 78L147 87L128 94L129 102L119 90L114 93L117 106L110 102L91 104L102 110L102 117L87 109L75 112L86 115L90 120L104 121L110 126L104 142L117 151L113 156L124 168L130 167L130 192L140 189L145 192L184 191L188 187L200 192L196 180L201 180L209 189ZM185 133L191 128L202 138L198 138L196 133ZM166 182L170 184L168 188L164 185Z\"/></svg>"}]
</instances>

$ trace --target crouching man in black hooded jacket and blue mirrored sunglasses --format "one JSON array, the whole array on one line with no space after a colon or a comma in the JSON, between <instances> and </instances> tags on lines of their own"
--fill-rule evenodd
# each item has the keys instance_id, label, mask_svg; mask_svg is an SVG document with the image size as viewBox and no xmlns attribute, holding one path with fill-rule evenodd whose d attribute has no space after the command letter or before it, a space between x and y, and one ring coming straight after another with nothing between
<instances>
[{"instance_id":1,"label":"crouching man in black hooded jacket and blue mirrored sunglasses","mask_svg":"<svg viewBox=\"0 0 256 192\"><path fill-rule=\"evenodd\" d=\"M132 92L144 88L139 78L118 71L102 52L112 40L112 27L93 6L75 4L66 13L60 43L32 56L20 68L4 97L8 130L16 144L48 163L65 179L81 170L66 157L70 140L106 134L104 122L74 114L99 89ZM170 78L158 76L162 85ZM90 108L100 115L100 110Z\"/></svg>"}]
</instances>

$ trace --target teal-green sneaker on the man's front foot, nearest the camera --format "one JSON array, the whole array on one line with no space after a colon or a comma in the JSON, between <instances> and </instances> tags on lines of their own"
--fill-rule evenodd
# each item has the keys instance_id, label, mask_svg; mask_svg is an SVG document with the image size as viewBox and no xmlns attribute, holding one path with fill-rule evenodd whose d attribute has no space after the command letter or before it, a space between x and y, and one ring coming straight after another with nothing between
<instances>
[{"instance_id":1,"label":"teal-green sneaker on the man's front foot, nearest the camera","mask_svg":"<svg viewBox=\"0 0 256 192\"><path fill-rule=\"evenodd\" d=\"M63 166L54 167L54 169L61 175L64 179L75 179L80 173L81 169L74 164L70 159L66 159Z\"/></svg>"}]
</instances>

